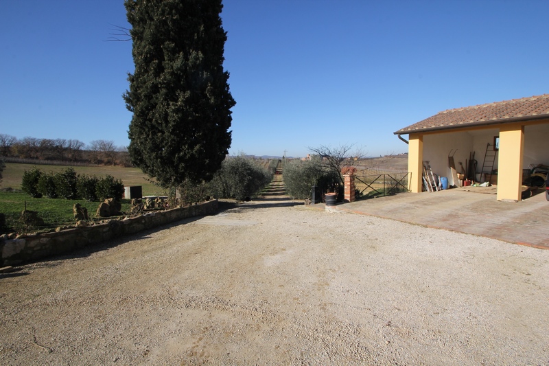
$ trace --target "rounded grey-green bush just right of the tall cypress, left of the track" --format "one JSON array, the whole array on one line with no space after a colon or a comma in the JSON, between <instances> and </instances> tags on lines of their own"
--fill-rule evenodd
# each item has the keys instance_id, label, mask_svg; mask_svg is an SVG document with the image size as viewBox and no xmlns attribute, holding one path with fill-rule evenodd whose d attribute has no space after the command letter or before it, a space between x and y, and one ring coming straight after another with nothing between
<instances>
[{"instance_id":1,"label":"rounded grey-green bush just right of the tall cypress, left of the track","mask_svg":"<svg viewBox=\"0 0 549 366\"><path fill-rule=\"evenodd\" d=\"M214 197L244 201L259 193L271 180L272 174L253 159L231 157L223 161L209 183L209 192Z\"/></svg>"}]
</instances>

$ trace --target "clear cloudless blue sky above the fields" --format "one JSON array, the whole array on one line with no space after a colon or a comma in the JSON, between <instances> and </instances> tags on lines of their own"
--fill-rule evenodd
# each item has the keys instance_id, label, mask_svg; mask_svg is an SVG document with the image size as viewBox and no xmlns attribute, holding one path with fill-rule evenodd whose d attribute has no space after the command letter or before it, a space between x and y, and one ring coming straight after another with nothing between
<instances>
[{"instance_id":1,"label":"clear cloudless blue sky above the fields","mask_svg":"<svg viewBox=\"0 0 549 366\"><path fill-rule=\"evenodd\" d=\"M236 155L303 157L450 108L549 93L549 1L226 0ZM3 1L0 133L127 146L124 1ZM405 136L406 137L406 136Z\"/></svg>"}]
</instances>

